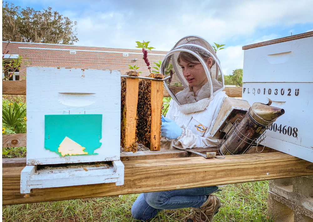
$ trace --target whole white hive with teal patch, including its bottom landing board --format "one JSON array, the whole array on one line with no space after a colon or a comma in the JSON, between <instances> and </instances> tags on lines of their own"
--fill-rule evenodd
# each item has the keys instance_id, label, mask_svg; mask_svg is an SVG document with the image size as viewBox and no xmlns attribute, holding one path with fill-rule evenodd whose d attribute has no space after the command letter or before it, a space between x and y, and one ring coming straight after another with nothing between
<instances>
[{"instance_id":1,"label":"whole white hive with teal patch, including its bottom landing board","mask_svg":"<svg viewBox=\"0 0 313 222\"><path fill-rule=\"evenodd\" d=\"M27 166L21 173L21 193L122 185L120 72L28 67L26 84Z\"/></svg>"}]
</instances>

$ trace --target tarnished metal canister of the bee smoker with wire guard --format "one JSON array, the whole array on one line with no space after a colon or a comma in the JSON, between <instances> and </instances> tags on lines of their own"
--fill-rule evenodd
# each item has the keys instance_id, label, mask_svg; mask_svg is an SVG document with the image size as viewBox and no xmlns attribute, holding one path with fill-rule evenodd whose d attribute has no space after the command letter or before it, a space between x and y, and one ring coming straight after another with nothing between
<instances>
[{"instance_id":1,"label":"tarnished metal canister of the bee smoker with wire guard","mask_svg":"<svg viewBox=\"0 0 313 222\"><path fill-rule=\"evenodd\" d=\"M240 116L223 137L218 145L219 154L245 154L250 148L264 141L265 130L285 113L284 109L269 106L271 104L271 100L268 104L253 103L244 117Z\"/></svg>"}]
</instances>

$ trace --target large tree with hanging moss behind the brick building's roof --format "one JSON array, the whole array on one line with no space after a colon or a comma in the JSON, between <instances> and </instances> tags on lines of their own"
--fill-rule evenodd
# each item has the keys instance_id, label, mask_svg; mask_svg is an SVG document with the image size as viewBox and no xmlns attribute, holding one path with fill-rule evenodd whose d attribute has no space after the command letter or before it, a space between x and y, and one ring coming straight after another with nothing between
<instances>
[{"instance_id":1,"label":"large tree with hanging moss behind the brick building's roof","mask_svg":"<svg viewBox=\"0 0 313 222\"><path fill-rule=\"evenodd\" d=\"M2 2L2 40L11 42L41 42L73 45L78 41L77 22L63 17L52 8L36 11L21 9Z\"/></svg>"}]
</instances>

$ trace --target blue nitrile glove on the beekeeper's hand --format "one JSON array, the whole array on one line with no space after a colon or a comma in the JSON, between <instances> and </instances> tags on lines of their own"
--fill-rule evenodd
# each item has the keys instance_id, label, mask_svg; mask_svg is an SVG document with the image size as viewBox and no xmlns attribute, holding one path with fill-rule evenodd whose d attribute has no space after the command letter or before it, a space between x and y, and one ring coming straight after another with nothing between
<instances>
[{"instance_id":1,"label":"blue nitrile glove on the beekeeper's hand","mask_svg":"<svg viewBox=\"0 0 313 222\"><path fill-rule=\"evenodd\" d=\"M174 120L165 118L163 115L161 120L161 136L168 139L177 139L178 136L182 135L182 128L180 128Z\"/></svg>"}]
</instances>

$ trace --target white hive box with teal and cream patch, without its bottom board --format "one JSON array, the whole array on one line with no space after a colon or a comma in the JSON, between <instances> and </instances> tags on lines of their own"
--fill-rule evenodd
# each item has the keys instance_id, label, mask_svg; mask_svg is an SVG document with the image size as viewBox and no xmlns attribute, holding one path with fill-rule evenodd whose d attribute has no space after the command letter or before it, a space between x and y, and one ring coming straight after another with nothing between
<instances>
[{"instance_id":1,"label":"white hive box with teal and cream patch, without its bottom board","mask_svg":"<svg viewBox=\"0 0 313 222\"><path fill-rule=\"evenodd\" d=\"M27 164L120 160L120 75L28 67Z\"/></svg>"}]
</instances>

